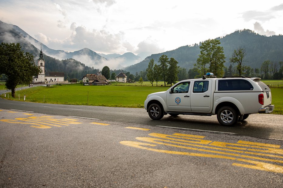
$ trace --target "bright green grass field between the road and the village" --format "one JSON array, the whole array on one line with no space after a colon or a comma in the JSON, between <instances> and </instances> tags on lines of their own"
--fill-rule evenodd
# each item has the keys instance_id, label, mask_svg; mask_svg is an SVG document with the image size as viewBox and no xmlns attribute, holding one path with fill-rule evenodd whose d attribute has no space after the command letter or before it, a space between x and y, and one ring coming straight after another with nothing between
<instances>
[{"instance_id":1,"label":"bright green grass field between the road and the village","mask_svg":"<svg viewBox=\"0 0 283 188\"><path fill-rule=\"evenodd\" d=\"M26 101L30 102L143 108L144 101L148 94L166 91L168 88L169 87L122 85L54 85L51 87L32 87L16 91L16 98L11 99L10 93L9 99L23 101L23 97L26 95ZM271 88L271 93L272 104L275 105L273 114L283 114L283 87Z\"/></svg>"}]
</instances>

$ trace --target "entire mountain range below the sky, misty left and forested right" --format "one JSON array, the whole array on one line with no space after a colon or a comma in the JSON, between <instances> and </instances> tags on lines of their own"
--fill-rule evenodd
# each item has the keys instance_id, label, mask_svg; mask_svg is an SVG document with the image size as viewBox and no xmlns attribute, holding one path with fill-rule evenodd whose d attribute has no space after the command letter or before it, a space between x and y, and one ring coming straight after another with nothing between
<instances>
[{"instance_id":1,"label":"entire mountain range below the sky, misty left and forested right","mask_svg":"<svg viewBox=\"0 0 283 188\"><path fill-rule=\"evenodd\" d=\"M229 67L229 58L233 54L234 50L238 47L246 48L246 64L251 68L260 68L261 64L266 60L274 62L283 61L282 35L267 37L264 35L259 35L254 31L243 29L216 39L220 40L220 46L222 46L224 49L224 54L226 57L226 62L224 65L226 67ZM78 79L81 78L81 74L84 74L85 71L98 70L104 66L108 66L115 70L123 69L131 74L135 74L136 72L145 71L145 69L148 67L148 62L151 59L154 59L155 63L158 64L158 59L162 54L167 55L168 58L174 58L179 62L178 66L189 70L193 68L193 64L196 63L200 53L199 46L201 45L201 42L194 45L186 45L171 51L152 54L146 58L137 56L131 52L122 55L97 54L88 48L74 52L66 52L63 50L53 50L48 48L40 41L32 38L18 26L6 24L0 21L0 43L1 42L20 43L24 51L28 51L35 56L35 62L37 62L36 60L38 58L40 48L42 47L43 53L46 56L49 56L49 61L53 61L52 66L55 66L58 63L65 63L64 67L79 66L78 70L84 69L82 73L75 73L74 68L72 69L73 75ZM68 59L72 60L69 61ZM76 62L76 60L79 62ZM73 64L73 62L76 63ZM55 67L56 69L60 69L61 66L51 67L50 65L50 67L48 67L48 62L46 63L46 66L49 71L62 71L54 70ZM66 68L66 70L68 70L68 68ZM90 74L90 72L88 74ZM65 75L68 75L68 73L65 72Z\"/></svg>"}]
</instances>

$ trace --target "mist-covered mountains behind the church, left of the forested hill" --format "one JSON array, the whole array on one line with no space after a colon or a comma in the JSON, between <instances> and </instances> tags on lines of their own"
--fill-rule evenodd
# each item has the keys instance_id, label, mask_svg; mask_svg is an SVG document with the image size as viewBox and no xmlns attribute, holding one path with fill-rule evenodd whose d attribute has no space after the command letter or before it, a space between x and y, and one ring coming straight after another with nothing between
<instances>
[{"instance_id":1,"label":"mist-covered mountains behind the church, left of the forested hill","mask_svg":"<svg viewBox=\"0 0 283 188\"><path fill-rule=\"evenodd\" d=\"M40 48L44 54L50 57L62 60L73 58L89 67L96 69L102 69L104 66L108 66L111 69L121 69L131 64L136 64L142 59L133 53L125 53L123 55L117 54L97 54L96 52L84 48L79 51L67 52L63 50L53 50L46 45L32 38L29 34L23 31L16 25L6 24L0 21L0 42L4 43L20 43L23 50L29 51L34 54L35 57L39 54ZM36 50L37 48L37 50Z\"/></svg>"}]
</instances>

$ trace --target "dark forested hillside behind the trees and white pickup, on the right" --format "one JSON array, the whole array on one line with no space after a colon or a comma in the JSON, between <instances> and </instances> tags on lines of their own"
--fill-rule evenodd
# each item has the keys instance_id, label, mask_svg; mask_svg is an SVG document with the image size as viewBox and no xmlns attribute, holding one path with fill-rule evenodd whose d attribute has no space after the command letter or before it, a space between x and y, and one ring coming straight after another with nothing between
<instances>
[{"instance_id":1,"label":"dark forested hillside behind the trees and white pickup, on the right","mask_svg":"<svg viewBox=\"0 0 283 188\"><path fill-rule=\"evenodd\" d=\"M244 29L235 31L234 33L226 35L223 38L216 39L220 40L220 46L224 48L224 54L226 57L226 62L224 65L226 67L229 67L229 59L234 50L238 47L246 48L246 60L248 61L246 65L250 66L251 68L260 68L261 64L267 60L277 63L279 61L283 61L282 35L266 37L263 35L258 35L257 33L254 33L254 31ZM154 59L155 63L158 64L159 57L162 54L165 54L169 58L172 57L176 59L176 61L179 62L178 66L189 70L193 68L193 64L196 63L198 54L200 53L199 45L201 45L201 43L192 46L182 46L175 50L166 51L160 54L152 54L140 63L131 65L124 69L131 73L144 71L151 59Z\"/></svg>"}]
</instances>

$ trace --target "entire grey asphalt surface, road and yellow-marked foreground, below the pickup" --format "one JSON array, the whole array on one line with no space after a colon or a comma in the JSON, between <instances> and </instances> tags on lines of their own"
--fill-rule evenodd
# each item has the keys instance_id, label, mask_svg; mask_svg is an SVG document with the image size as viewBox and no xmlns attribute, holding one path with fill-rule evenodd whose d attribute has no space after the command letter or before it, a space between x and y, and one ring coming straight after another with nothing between
<instances>
[{"instance_id":1,"label":"entire grey asphalt surface, road and yellow-marked foreground, below the pickup","mask_svg":"<svg viewBox=\"0 0 283 188\"><path fill-rule=\"evenodd\" d=\"M282 187L280 115L223 127L215 116L0 99L0 116L0 187Z\"/></svg>"}]
</instances>

